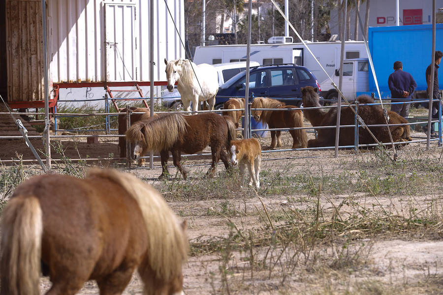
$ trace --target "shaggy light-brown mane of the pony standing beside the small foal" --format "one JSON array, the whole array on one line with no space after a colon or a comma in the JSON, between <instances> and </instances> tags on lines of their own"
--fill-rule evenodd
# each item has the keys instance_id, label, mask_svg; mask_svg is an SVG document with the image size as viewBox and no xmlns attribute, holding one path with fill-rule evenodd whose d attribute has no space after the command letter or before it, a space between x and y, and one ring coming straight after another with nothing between
<instances>
[{"instance_id":1,"label":"shaggy light-brown mane of the pony standing beside the small foal","mask_svg":"<svg viewBox=\"0 0 443 295\"><path fill-rule=\"evenodd\" d=\"M171 148L186 132L188 122L180 114L166 114L135 122L127 131L130 142L144 142L148 150Z\"/></svg>"}]
</instances>

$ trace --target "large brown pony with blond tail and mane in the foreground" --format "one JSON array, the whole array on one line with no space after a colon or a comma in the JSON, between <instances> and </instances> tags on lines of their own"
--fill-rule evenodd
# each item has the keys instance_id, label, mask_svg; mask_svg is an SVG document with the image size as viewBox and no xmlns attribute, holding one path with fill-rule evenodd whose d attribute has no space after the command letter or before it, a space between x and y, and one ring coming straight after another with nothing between
<instances>
[{"instance_id":1,"label":"large brown pony with blond tail and mane in the foreground","mask_svg":"<svg viewBox=\"0 0 443 295\"><path fill-rule=\"evenodd\" d=\"M186 222L137 177L94 169L85 179L50 174L23 182L1 221L1 295L73 295L88 280L121 294L137 268L144 294L180 294Z\"/></svg>"}]
</instances>

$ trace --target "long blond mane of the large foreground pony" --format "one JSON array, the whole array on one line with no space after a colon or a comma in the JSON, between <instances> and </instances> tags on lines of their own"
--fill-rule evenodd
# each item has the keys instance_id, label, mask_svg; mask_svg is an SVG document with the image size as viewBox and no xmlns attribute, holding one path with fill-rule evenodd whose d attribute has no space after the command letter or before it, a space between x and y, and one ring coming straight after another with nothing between
<instances>
[{"instance_id":1,"label":"long blond mane of the large foreground pony","mask_svg":"<svg viewBox=\"0 0 443 295\"><path fill-rule=\"evenodd\" d=\"M182 273L189 244L179 217L151 185L129 173L91 169L87 177L107 178L121 185L137 202L149 236L146 259L157 277L170 281Z\"/></svg>"}]
</instances>

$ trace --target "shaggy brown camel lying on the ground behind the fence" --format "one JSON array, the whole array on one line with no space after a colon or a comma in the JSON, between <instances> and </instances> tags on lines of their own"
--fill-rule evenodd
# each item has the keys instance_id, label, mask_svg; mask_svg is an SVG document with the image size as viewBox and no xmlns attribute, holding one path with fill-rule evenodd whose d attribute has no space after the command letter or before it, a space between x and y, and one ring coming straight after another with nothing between
<instances>
[{"instance_id":1,"label":"shaggy brown camel lying on the ground behind the fence","mask_svg":"<svg viewBox=\"0 0 443 295\"><path fill-rule=\"evenodd\" d=\"M301 89L303 95L303 106L319 107L319 97L317 90L311 86L307 86ZM374 100L367 96L359 96L359 103L374 103ZM311 122L313 126L336 126L337 124L337 108L330 108L327 111L324 109L304 109L305 117ZM383 116L383 110L380 106L359 106L358 114L363 121L368 124L385 124L386 121ZM389 123L400 124L408 123L408 121L398 115L395 112L388 111ZM354 113L349 106L342 107L340 115L341 125L354 125L355 117ZM382 143L390 143L389 133L386 126L383 127L370 127L371 132ZM391 130L392 139L394 142L406 142L411 141L409 125L405 126L389 126ZM369 132L363 127L358 129L359 144L374 144L376 141L372 138ZM317 138L311 139L308 142L308 147L332 147L335 145L335 129L317 129ZM354 127L341 128L340 129L340 146L352 146L354 145Z\"/></svg>"}]
</instances>

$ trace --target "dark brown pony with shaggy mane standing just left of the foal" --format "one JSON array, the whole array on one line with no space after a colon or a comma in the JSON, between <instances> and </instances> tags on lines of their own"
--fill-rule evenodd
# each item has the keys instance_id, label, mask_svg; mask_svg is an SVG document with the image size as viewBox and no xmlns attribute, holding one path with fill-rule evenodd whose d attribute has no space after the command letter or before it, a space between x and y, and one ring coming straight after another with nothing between
<instances>
[{"instance_id":1,"label":"dark brown pony with shaggy mane standing just left of the foal","mask_svg":"<svg viewBox=\"0 0 443 295\"><path fill-rule=\"evenodd\" d=\"M163 170L158 178L168 174L166 165L171 151L174 165L186 179L188 171L180 164L182 152L192 154L209 145L212 153L209 173L214 177L220 159L224 167L229 168L225 150L229 148L229 141L236 138L236 131L229 117L221 117L214 113L193 116L166 114L134 123L127 130L126 138L134 146L134 159L149 150L160 152Z\"/></svg>"}]
</instances>

